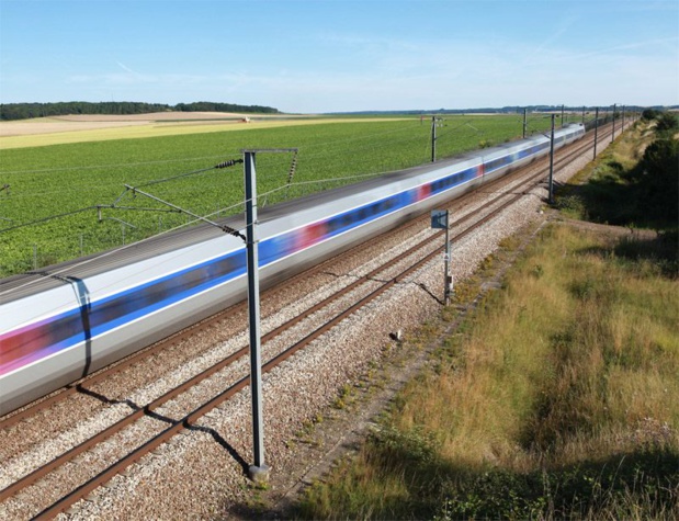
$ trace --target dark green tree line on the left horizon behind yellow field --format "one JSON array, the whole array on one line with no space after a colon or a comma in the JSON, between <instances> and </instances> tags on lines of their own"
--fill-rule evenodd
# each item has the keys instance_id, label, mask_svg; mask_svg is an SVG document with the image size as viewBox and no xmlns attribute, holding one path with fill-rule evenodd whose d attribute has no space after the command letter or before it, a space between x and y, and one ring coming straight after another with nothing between
<instances>
[{"instance_id":1,"label":"dark green tree line on the left horizon behind yellow field","mask_svg":"<svg viewBox=\"0 0 679 521\"><path fill-rule=\"evenodd\" d=\"M278 109L260 105L237 105L199 101L195 103L142 103L134 101L69 101L59 103L2 103L0 121L27 120L31 117L63 116L69 114L148 114L150 112L248 112L278 114Z\"/></svg>"}]
</instances>

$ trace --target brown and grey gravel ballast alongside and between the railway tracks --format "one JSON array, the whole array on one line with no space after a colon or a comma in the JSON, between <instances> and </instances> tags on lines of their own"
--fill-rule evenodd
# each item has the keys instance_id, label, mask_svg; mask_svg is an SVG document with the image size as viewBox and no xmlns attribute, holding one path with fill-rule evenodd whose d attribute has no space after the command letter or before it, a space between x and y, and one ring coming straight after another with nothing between
<instances>
[{"instance_id":1,"label":"brown and grey gravel ballast alongside and between the railway tracks","mask_svg":"<svg viewBox=\"0 0 679 521\"><path fill-rule=\"evenodd\" d=\"M600 145L599 149L603 148ZM555 180L558 182L568 179L588 160L582 158L556 172ZM546 190L543 188L534 190L531 195L522 197L511 208L507 208L499 218L453 245L451 267L454 279L462 280L471 275L478 263L498 247L501 239L527 223L540 218L540 208L545 194ZM392 242L403 250L409 242L418 241L421 236L431 233L422 230L417 237L394 239ZM391 253L382 253L386 254ZM366 259L370 259L370 256L354 256L349 261L349 264L353 265L348 270L332 269L333 273L319 275L325 281L324 291L320 293L306 293L305 290L302 294L294 292L286 295L283 299L288 305L280 314L268 317L263 330L269 330L274 324L291 316L290 314L304 308L297 307L306 305L303 302L304 295L308 301L318 302L322 295L333 290L330 286L343 285L346 280L370 271L370 263L363 264ZM378 259L373 260L377 262ZM304 421L322 411L337 397L338 389L364 374L371 363L380 363L385 347L393 343L389 333L415 328L438 313L442 298L441 286L442 261L435 259L316 340L309 348L263 376L265 461L272 467L272 473L285 472L286 466L294 461L296 452L294 448L288 448L288 441L295 432L303 429ZM353 293L344 298L346 303L355 299ZM271 304L262 303L263 308L268 305L276 307L273 301ZM329 313L317 314L313 317L313 322L320 324ZM247 342L246 333L247 331L240 327L236 336L222 341L217 348L206 351L190 363L174 367L162 378L137 389L126 399L142 405L159 396L176 382L185 380L186 374L194 373L211 360L216 360L244 346ZM267 346L263 360L268 360L268 353L279 349L275 344L283 341L284 338L276 339L271 346ZM189 404L193 399L200 401L204 399L204 393L208 393L208 396L210 393L214 395L225 385L227 384L224 375L213 377L180 401ZM115 389L110 392L114 394ZM160 408L158 414L177 418L176 415L180 414L178 407L178 404L172 403ZM69 432L34 445L33 450L24 452L25 456L18 456L16 462L12 460L7 462L9 466L3 466L0 483L4 483L4 479L11 483L12 476L21 475L21 465L24 464L20 461L22 457L26 461L49 460L57 448L68 444L63 437L82 437L89 429L94 429L88 426L112 422L113 418L125 409L128 409L125 404L103 407L87 421L73 426ZM124 475L118 475L106 486L100 487L87 500L79 501L59 519L205 519L225 516L230 507L247 502L250 497L249 480L244 472L247 462L251 460L250 414L250 394L249 389L246 389L202 418L195 427L174 437L171 442L157 449L152 455L129 467ZM149 419L135 424L133 430L148 433L158 429L159 422ZM115 460L117 449L114 448L121 443L125 445L124 439L125 434L116 435L115 439L98 448L93 454L84 455L82 461L76 465L68 465L63 472L87 474L88 468L99 468L102 463ZM35 464L34 460L31 464ZM33 488L41 490L38 492L41 496L45 494L49 497L58 496L58 482L59 473L55 473L55 476L46 479L39 487ZM54 487L52 494L50 487ZM0 505L0 517L25 519L37 513L38 510L35 510L32 499L34 495L35 491L31 495L24 492Z\"/></svg>"}]
</instances>

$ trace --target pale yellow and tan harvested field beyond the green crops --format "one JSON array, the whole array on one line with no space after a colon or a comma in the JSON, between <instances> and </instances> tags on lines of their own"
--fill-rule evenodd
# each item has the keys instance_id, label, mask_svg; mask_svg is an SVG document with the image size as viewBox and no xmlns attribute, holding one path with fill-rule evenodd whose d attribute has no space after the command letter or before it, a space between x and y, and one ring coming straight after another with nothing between
<instances>
[{"instance_id":1,"label":"pale yellow and tan harvested field beyond the green crops","mask_svg":"<svg viewBox=\"0 0 679 521\"><path fill-rule=\"evenodd\" d=\"M361 118L383 121L385 118ZM393 118L391 118L393 121ZM77 114L0 122L0 150L111 139L248 131L285 125L350 122L352 118L326 118L296 115L244 115L224 112L161 112L154 114Z\"/></svg>"}]
</instances>

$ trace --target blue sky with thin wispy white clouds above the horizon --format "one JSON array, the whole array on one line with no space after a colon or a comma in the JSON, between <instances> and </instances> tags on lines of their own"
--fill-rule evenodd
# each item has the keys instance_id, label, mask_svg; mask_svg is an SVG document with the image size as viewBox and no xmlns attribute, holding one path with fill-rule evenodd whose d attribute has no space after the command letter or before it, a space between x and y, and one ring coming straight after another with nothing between
<instances>
[{"instance_id":1,"label":"blue sky with thin wispy white clouds above the horizon","mask_svg":"<svg viewBox=\"0 0 679 521\"><path fill-rule=\"evenodd\" d=\"M679 0L0 0L0 102L679 104Z\"/></svg>"}]
</instances>

